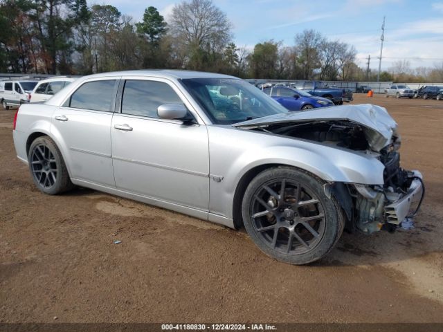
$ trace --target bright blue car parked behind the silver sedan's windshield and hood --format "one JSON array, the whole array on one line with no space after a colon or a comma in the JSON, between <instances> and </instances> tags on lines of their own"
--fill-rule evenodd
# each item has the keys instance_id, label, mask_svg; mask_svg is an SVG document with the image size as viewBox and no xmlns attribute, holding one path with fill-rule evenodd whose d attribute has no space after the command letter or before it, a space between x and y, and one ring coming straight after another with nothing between
<instances>
[{"instance_id":1,"label":"bright blue car parked behind the silver sedan's windshield and hood","mask_svg":"<svg viewBox=\"0 0 443 332\"><path fill-rule=\"evenodd\" d=\"M287 88L285 86L266 87L263 89L263 92L266 93L266 95L270 95L289 111L334 106L332 100L323 97L315 97L305 91Z\"/></svg>"}]
</instances>

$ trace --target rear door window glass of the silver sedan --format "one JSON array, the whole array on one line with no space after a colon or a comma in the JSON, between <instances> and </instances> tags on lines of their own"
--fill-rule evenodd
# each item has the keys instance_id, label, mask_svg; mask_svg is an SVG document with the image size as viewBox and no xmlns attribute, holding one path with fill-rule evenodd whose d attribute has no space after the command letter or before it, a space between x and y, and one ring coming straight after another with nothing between
<instances>
[{"instance_id":1,"label":"rear door window glass of the silver sedan","mask_svg":"<svg viewBox=\"0 0 443 332\"><path fill-rule=\"evenodd\" d=\"M111 111L114 102L116 80L103 80L84 83L78 88L64 106L93 111Z\"/></svg>"}]
</instances>

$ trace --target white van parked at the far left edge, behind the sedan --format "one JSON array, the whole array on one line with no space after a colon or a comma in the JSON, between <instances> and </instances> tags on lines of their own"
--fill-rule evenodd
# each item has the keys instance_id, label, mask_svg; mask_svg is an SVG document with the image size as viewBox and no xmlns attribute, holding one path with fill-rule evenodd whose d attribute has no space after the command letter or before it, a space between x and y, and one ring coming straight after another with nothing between
<instances>
[{"instance_id":1,"label":"white van parked at the far left edge, behind the sedan","mask_svg":"<svg viewBox=\"0 0 443 332\"><path fill-rule=\"evenodd\" d=\"M3 109L19 107L24 102L29 102L30 93L38 81L10 80L0 82L0 102Z\"/></svg>"}]
</instances>

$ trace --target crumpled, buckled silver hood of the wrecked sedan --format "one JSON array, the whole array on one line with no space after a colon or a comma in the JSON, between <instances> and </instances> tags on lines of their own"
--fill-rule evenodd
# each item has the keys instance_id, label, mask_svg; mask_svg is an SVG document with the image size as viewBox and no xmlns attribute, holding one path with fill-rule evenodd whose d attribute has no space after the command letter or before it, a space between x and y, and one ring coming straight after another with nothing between
<instances>
[{"instance_id":1,"label":"crumpled, buckled silver hood of the wrecked sedan","mask_svg":"<svg viewBox=\"0 0 443 332\"><path fill-rule=\"evenodd\" d=\"M237 128L262 127L272 124L290 124L298 122L349 121L361 126L368 145L373 151L380 151L392 142L392 136L398 137L397 122L383 107L372 104L341 105L333 109L318 108L264 116L253 120L233 124Z\"/></svg>"}]
</instances>

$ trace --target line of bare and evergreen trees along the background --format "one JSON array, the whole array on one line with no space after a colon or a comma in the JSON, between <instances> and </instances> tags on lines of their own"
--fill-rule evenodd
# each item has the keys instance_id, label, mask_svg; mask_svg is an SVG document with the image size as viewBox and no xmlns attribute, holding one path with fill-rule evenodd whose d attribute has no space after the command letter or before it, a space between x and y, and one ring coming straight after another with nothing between
<instances>
[{"instance_id":1,"label":"line of bare and evergreen trees along the background","mask_svg":"<svg viewBox=\"0 0 443 332\"><path fill-rule=\"evenodd\" d=\"M375 78L357 66L354 46L315 30L296 34L293 46L271 39L248 49L235 45L232 29L212 0L177 3L168 21L150 6L139 22L114 6L87 6L86 0L1 0L0 72L87 75L178 68L244 78ZM409 70L407 77L441 82L439 73L437 67ZM386 71L381 80L403 74Z\"/></svg>"}]
</instances>

